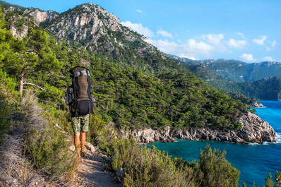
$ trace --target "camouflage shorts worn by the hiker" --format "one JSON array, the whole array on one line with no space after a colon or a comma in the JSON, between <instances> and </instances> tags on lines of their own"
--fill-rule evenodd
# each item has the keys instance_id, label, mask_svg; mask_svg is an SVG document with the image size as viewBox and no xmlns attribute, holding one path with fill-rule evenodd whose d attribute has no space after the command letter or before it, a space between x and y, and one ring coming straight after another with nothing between
<instances>
[{"instance_id":1,"label":"camouflage shorts worn by the hiker","mask_svg":"<svg viewBox=\"0 0 281 187\"><path fill-rule=\"evenodd\" d=\"M75 134L89 131L90 114L85 116L71 117L71 124Z\"/></svg>"}]
</instances>

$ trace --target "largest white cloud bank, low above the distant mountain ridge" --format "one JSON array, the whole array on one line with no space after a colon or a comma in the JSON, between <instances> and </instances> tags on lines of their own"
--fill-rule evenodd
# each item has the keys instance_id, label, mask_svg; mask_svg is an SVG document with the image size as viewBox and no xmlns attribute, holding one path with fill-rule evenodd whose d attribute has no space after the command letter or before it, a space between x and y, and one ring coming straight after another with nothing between
<instances>
[{"instance_id":1,"label":"largest white cloud bank, low above the distant mountain ridge","mask_svg":"<svg viewBox=\"0 0 281 187\"><path fill-rule=\"evenodd\" d=\"M188 40L186 43L177 44L169 40L150 40L150 43L155 45L160 51L167 54L177 56L186 56L189 59L196 59L196 56L210 56L211 52L215 51L215 47L206 44L205 42L196 42L196 40Z\"/></svg>"}]
</instances>

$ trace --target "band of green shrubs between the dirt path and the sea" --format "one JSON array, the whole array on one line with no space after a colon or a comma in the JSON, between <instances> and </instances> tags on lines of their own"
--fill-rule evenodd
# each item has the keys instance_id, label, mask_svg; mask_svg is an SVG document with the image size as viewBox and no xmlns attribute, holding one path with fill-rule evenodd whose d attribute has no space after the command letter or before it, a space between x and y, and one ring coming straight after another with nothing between
<instances>
[{"instance_id":1,"label":"band of green shrubs between the dirt path and the sea","mask_svg":"<svg viewBox=\"0 0 281 187\"><path fill-rule=\"evenodd\" d=\"M112 159L114 171L123 169L124 186L238 186L239 171L227 162L224 151L209 146L199 162L182 161L122 138L100 115L91 117L88 138Z\"/></svg>"}]
</instances>

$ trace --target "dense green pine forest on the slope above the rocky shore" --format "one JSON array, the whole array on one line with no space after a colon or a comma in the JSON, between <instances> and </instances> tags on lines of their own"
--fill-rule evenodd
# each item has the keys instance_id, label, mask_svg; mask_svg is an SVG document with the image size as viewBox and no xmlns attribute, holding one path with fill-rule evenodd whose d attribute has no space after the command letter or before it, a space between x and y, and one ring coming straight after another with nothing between
<instances>
[{"instance_id":1,"label":"dense green pine forest on the slope above the rocky shore","mask_svg":"<svg viewBox=\"0 0 281 187\"><path fill-rule=\"evenodd\" d=\"M208 88L195 76L169 71L145 75L126 64L92 61L96 96L104 113L130 128L237 128L245 105Z\"/></svg>"}]
</instances>

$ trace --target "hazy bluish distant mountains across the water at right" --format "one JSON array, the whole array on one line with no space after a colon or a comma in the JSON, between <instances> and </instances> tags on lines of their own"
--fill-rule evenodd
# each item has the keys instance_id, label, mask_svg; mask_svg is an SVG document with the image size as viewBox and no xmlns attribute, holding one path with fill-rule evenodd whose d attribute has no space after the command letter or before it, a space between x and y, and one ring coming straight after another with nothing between
<instances>
[{"instance_id":1,"label":"hazy bluish distant mountains across the water at right","mask_svg":"<svg viewBox=\"0 0 281 187\"><path fill-rule=\"evenodd\" d=\"M225 59L219 59L217 61L214 60L194 61L188 58L180 58L178 56L173 56L173 55L169 55L169 56L172 57L173 59L180 61L182 66L189 68L189 70L195 73L198 77L202 78L203 80L210 83L211 85L214 85L215 88L225 90L226 92L241 93L243 95L246 95L247 97L255 97L258 99L272 99L272 100L281 99L280 76L275 76L275 77L270 76L267 78L263 78L261 80L247 81L247 82L245 81L245 82L237 83L232 80L229 80L230 78L227 79L218 75L218 72L220 72L221 74L222 72L227 72L227 71L222 71L222 69L226 70L230 68L235 69L235 71L240 73L246 72L245 67L249 66L249 64L246 64L244 62L234 61L234 60L227 61ZM225 62L227 68L223 67L224 65L223 62ZM238 66L237 63L239 63ZM220 64L222 68L220 68L219 71L212 71L211 68L214 68L215 65L217 64ZM270 74L270 71L273 71L273 75L279 73L274 70L274 68L279 68L280 66L280 63L277 62L261 62L258 64L250 64L250 65L251 65L251 69L253 70L251 71L252 75L255 74L254 72L261 71L261 69L265 70L265 74ZM231 76L232 79L238 78L237 76L235 78L234 73L232 75L230 73L228 74L226 73L225 75L227 75L228 77Z\"/></svg>"}]
</instances>

